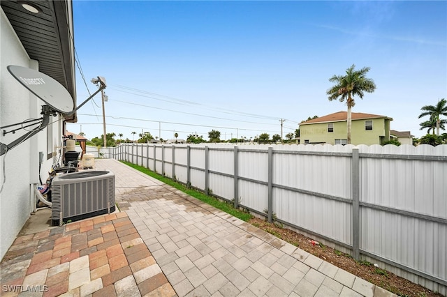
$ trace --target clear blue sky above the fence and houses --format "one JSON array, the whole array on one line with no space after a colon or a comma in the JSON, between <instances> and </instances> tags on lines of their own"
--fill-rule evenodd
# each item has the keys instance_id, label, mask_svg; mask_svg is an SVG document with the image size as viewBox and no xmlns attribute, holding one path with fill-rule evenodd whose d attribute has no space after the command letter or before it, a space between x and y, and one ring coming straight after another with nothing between
<instances>
[{"instance_id":1,"label":"clear blue sky above the fence and houses","mask_svg":"<svg viewBox=\"0 0 447 297\"><path fill-rule=\"evenodd\" d=\"M370 67L376 91L353 112L425 135L420 107L447 98L447 1L73 1L75 49L89 91L107 79L107 132L133 139L270 136L328 100L332 75ZM89 93L77 70L78 102ZM82 125L82 127L81 127ZM103 134L101 96L71 132ZM135 139L138 135L135 135Z\"/></svg>"}]
</instances>

